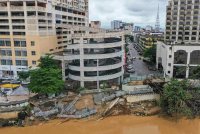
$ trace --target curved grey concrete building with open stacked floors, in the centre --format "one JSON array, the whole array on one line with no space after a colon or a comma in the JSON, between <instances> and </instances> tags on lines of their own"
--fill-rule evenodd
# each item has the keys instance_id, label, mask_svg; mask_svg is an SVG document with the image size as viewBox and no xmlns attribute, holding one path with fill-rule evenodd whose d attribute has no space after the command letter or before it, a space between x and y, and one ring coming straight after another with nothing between
<instances>
[{"instance_id":1,"label":"curved grey concrete building with open stacked floors, in the centre","mask_svg":"<svg viewBox=\"0 0 200 134\"><path fill-rule=\"evenodd\" d=\"M104 82L120 84L123 80L124 44L123 32L74 34L63 56L55 58L63 61L65 79L99 89Z\"/></svg>"}]
</instances>

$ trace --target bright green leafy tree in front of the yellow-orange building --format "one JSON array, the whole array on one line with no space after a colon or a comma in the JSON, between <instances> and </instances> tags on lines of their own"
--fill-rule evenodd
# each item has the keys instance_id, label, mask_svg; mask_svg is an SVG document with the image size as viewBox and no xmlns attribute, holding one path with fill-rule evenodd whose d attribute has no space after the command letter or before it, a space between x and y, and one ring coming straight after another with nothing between
<instances>
[{"instance_id":1,"label":"bright green leafy tree in front of the yellow-orange building","mask_svg":"<svg viewBox=\"0 0 200 134\"><path fill-rule=\"evenodd\" d=\"M51 55L41 57L38 67L30 71L29 88L32 92L53 94L64 89L62 71Z\"/></svg>"}]
</instances>

